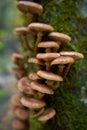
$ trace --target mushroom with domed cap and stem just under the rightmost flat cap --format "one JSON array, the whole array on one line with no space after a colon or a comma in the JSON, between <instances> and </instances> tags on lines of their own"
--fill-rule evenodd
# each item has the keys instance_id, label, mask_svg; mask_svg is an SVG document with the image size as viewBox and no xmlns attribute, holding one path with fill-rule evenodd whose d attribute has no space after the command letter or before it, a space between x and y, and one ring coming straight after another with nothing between
<instances>
[{"instance_id":1,"label":"mushroom with domed cap and stem just under the rightmost flat cap","mask_svg":"<svg viewBox=\"0 0 87 130\"><path fill-rule=\"evenodd\" d=\"M54 59L52 62L51 62L51 65L59 65L58 66L58 74L59 75L62 75L63 74L63 70L64 70L64 65L65 64L72 64L74 62L74 59L72 57L65 57L65 56L60 56L56 59Z\"/></svg>"}]
</instances>

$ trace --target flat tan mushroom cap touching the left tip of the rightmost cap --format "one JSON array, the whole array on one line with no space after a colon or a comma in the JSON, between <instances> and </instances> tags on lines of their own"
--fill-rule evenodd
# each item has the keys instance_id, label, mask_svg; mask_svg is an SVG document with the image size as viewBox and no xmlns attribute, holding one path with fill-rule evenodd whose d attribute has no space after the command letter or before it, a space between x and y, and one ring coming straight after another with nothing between
<instances>
[{"instance_id":1,"label":"flat tan mushroom cap touching the left tip of the rightmost cap","mask_svg":"<svg viewBox=\"0 0 87 130\"><path fill-rule=\"evenodd\" d=\"M59 53L38 53L36 55L36 57L38 59L41 59L41 60L44 60L44 61L46 61L46 60L50 61L50 60L53 60L53 59L55 59L55 58L57 58L59 56L60 56Z\"/></svg>"}]
</instances>

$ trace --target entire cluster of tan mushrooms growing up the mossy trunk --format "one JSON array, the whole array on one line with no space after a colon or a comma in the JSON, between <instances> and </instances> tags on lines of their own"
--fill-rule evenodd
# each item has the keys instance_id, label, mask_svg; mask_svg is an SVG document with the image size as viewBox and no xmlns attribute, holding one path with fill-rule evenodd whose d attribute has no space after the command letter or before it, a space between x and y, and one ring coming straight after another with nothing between
<instances>
[{"instance_id":1,"label":"entire cluster of tan mushrooms growing up the mossy trunk","mask_svg":"<svg viewBox=\"0 0 87 130\"><path fill-rule=\"evenodd\" d=\"M47 108L43 97L48 94L50 98L60 82L64 82L70 66L84 56L79 52L61 50L61 44L71 41L70 36L55 32L51 25L37 22L38 18L34 16L39 17L43 12L40 4L22 0L17 3L17 7L27 16L28 25L15 29L24 52L13 53L11 57L16 67L11 68L10 72L18 79L16 87L20 93L11 97L10 110L15 115L13 129L27 130L29 118L46 122L55 116L55 109ZM36 37L34 48L30 45L28 35ZM44 40L44 36L47 40ZM35 57L30 57L26 52L35 53ZM36 70L28 73L26 64L35 64Z\"/></svg>"}]
</instances>

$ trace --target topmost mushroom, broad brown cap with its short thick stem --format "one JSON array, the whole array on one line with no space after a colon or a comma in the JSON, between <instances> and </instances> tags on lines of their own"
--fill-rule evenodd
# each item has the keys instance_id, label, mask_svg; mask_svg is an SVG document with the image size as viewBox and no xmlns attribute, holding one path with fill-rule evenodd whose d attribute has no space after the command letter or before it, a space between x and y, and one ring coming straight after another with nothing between
<instances>
[{"instance_id":1,"label":"topmost mushroom, broad brown cap with its short thick stem","mask_svg":"<svg viewBox=\"0 0 87 130\"><path fill-rule=\"evenodd\" d=\"M43 12L42 5L31 1L19 1L17 7L27 16L28 23L34 22L34 14L40 15Z\"/></svg>"}]
</instances>

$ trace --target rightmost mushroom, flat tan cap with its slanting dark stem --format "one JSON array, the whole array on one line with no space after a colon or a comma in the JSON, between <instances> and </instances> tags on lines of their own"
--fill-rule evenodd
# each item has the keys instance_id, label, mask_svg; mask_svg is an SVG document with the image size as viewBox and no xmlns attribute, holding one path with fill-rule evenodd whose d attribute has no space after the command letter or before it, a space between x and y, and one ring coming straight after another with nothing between
<instances>
[{"instance_id":1,"label":"rightmost mushroom, flat tan cap with its slanting dark stem","mask_svg":"<svg viewBox=\"0 0 87 130\"><path fill-rule=\"evenodd\" d=\"M72 57L74 60L76 60L76 59L83 59L83 58L84 58L84 55L83 55L82 53L74 52L74 51L61 51L61 52L60 52L60 55L61 55L61 56L70 56L70 57ZM67 75L67 73L68 73L68 71L69 71L69 69L70 69L70 67L71 67L71 64L72 64L72 63L70 63L70 64L67 65L67 67L66 67L66 69L65 69L65 72L64 72L64 75L63 75L63 78L66 77L66 75Z\"/></svg>"}]
</instances>

